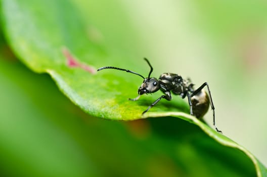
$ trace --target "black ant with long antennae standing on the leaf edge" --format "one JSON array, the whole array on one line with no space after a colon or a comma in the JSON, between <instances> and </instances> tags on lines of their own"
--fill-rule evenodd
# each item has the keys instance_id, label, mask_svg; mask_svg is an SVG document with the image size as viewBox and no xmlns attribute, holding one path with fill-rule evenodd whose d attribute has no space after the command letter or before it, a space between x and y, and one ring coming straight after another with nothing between
<instances>
[{"instance_id":1,"label":"black ant with long antennae standing on the leaf edge","mask_svg":"<svg viewBox=\"0 0 267 177\"><path fill-rule=\"evenodd\" d=\"M171 94L174 95L180 95L183 99L188 98L188 103L190 106L190 114L196 116L197 118L203 117L206 112L208 111L209 104L211 106L211 109L213 111L213 125L217 132L220 132L218 128L215 125L215 112L214 112L214 105L212 102L209 86L207 82L204 82L198 89L194 90L194 84L191 83L190 79L183 79L178 74L173 73L163 73L159 76L159 79L155 77L150 77L153 67L149 63L148 59L144 58L148 65L150 66L150 72L148 74L148 77L145 78L141 74L138 74L136 72L117 68L113 66L104 66L98 69L98 71L102 69L117 69L121 71L126 71L132 74L139 75L144 79L143 83L138 89L138 97L134 99L129 99L130 101L136 101L140 98L143 94L151 94L155 93L158 90L162 91L164 95L159 97L154 103L152 103L142 114L145 114L150 108L155 106L162 98L170 101L171 100ZM203 88L207 86L208 94L203 90Z\"/></svg>"}]
</instances>

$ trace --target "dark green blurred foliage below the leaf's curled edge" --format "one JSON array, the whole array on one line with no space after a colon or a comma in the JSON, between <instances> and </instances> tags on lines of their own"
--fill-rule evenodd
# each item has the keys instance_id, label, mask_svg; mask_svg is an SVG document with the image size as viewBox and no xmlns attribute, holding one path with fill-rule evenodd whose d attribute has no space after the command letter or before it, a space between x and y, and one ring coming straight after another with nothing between
<instances>
[{"instance_id":1,"label":"dark green blurred foliage below the leaf's curled edge","mask_svg":"<svg viewBox=\"0 0 267 177\"><path fill-rule=\"evenodd\" d=\"M89 117L48 75L34 74L1 55L0 82L3 176L256 174L244 153L221 146L182 119L121 122Z\"/></svg>"}]
</instances>

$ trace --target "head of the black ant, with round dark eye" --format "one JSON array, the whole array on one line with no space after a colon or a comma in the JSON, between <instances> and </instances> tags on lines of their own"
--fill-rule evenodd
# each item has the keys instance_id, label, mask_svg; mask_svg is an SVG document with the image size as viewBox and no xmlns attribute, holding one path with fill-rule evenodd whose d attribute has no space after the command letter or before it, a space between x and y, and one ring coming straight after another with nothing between
<instances>
[{"instance_id":1,"label":"head of the black ant, with round dark eye","mask_svg":"<svg viewBox=\"0 0 267 177\"><path fill-rule=\"evenodd\" d=\"M158 79L155 77L151 78L145 78L143 83L138 89L138 95L143 95L143 94L151 94L154 92L157 92L160 89L160 84Z\"/></svg>"}]
</instances>

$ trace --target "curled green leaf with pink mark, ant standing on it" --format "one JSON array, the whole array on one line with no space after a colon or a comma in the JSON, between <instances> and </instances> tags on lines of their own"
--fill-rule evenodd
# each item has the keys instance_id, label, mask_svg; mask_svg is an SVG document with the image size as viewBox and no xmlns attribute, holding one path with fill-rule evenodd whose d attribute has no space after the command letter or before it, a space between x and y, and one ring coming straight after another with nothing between
<instances>
[{"instance_id":1,"label":"curled green leaf with pink mark, ant standing on it","mask_svg":"<svg viewBox=\"0 0 267 177\"><path fill-rule=\"evenodd\" d=\"M140 77L115 70L96 73L97 68L111 65L134 70L142 75L148 74L144 72L149 68L142 60L143 56L138 55L142 53L142 40L136 36L126 15L121 16L124 11L120 6L120 3L109 1L101 1L98 4L63 0L2 0L3 28L11 48L19 59L35 72L49 73L60 90L88 114L111 120L165 116L182 118L198 125L220 144L231 147L229 154L244 152L252 160L257 175L266 176L266 168L250 152L225 136L217 134L195 117L183 113L188 112L188 105L182 99L161 102L142 116L141 113L160 96L160 93L143 97L138 102L130 102L127 98L137 96L137 84L142 82ZM116 11L112 10L113 8L116 8ZM137 56L140 60L137 60ZM177 120L175 124L178 122L181 123ZM203 137L200 138L201 141L204 140ZM160 140L162 142L153 146L164 143ZM215 150L225 148L217 145L214 147ZM174 160L183 156L180 151L191 149L191 153L197 152L195 147L190 145L177 148L179 155L176 155ZM224 152L221 149L219 152ZM187 156L190 156L190 152ZM246 159L241 156L238 155L239 159ZM199 164L202 160L206 162L206 159L201 158ZM249 164L247 161L245 163ZM160 160L155 165L160 166ZM216 168L212 168L212 174ZM253 173L251 169L249 171L249 174Z\"/></svg>"}]
</instances>

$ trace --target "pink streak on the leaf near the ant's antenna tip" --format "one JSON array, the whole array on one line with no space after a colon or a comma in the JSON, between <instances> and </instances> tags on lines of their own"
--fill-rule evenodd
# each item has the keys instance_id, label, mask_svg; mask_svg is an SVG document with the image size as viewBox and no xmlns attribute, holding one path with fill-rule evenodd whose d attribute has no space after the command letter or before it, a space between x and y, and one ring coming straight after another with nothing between
<instances>
[{"instance_id":1,"label":"pink streak on the leaf near the ant's antenna tip","mask_svg":"<svg viewBox=\"0 0 267 177\"><path fill-rule=\"evenodd\" d=\"M91 74L95 74L97 72L97 70L90 65L86 65L83 63L80 63L70 52L67 48L63 48L62 49L62 53L63 55L66 57L67 59L67 66L71 67L71 68L81 68L87 72L90 72Z\"/></svg>"}]
</instances>

